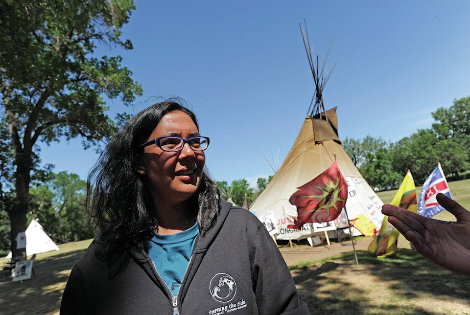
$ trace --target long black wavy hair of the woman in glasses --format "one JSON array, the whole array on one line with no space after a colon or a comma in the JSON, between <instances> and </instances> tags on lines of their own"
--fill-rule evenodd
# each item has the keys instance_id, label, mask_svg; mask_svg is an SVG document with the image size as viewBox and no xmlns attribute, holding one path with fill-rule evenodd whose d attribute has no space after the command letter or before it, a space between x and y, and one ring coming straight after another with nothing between
<instances>
[{"instance_id":1,"label":"long black wavy hair of the woman in glasses","mask_svg":"<svg viewBox=\"0 0 470 315\"><path fill-rule=\"evenodd\" d=\"M180 99L154 104L129 119L108 142L88 175L87 211L108 243L148 240L158 225L152 215L145 178L137 172L145 142L162 117L185 112L198 127L196 116ZM219 213L220 193L204 167L201 183L190 203L198 207L197 222L205 233Z\"/></svg>"}]
</instances>

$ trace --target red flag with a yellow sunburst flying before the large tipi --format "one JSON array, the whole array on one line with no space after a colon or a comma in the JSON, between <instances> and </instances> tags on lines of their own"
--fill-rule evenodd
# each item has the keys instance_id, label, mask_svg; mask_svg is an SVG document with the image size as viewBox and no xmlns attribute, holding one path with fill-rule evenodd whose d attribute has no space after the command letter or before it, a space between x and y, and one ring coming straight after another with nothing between
<instances>
[{"instance_id":1,"label":"red flag with a yellow sunburst flying before the large tipi","mask_svg":"<svg viewBox=\"0 0 470 315\"><path fill-rule=\"evenodd\" d=\"M348 184L336 161L325 172L297 189L289 199L297 207L297 220L288 228L300 229L305 223L334 220L348 198Z\"/></svg>"}]
</instances>

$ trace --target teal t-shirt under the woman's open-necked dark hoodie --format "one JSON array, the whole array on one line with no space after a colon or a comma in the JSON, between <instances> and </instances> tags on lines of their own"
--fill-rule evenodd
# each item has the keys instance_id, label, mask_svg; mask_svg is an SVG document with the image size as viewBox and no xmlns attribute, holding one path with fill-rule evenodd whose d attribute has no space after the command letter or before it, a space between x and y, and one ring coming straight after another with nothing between
<instances>
[{"instance_id":1,"label":"teal t-shirt under the woman's open-necked dark hoodie","mask_svg":"<svg viewBox=\"0 0 470 315\"><path fill-rule=\"evenodd\" d=\"M173 296L178 294L198 233L199 227L196 223L174 235L155 233L150 240L148 256L153 260Z\"/></svg>"}]
</instances>

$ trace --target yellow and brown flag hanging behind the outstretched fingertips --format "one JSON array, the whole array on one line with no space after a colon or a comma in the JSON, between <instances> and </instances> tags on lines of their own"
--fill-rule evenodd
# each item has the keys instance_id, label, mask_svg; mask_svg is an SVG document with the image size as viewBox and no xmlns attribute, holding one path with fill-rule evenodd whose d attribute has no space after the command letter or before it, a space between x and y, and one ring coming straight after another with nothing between
<instances>
[{"instance_id":1,"label":"yellow and brown flag hanging behind the outstretched fingertips","mask_svg":"<svg viewBox=\"0 0 470 315\"><path fill-rule=\"evenodd\" d=\"M398 188L397 194L390 204L418 212L418 202L416 200L416 186L410 170L405 175ZM400 232L388 223L388 217L384 216L380 232L369 245L369 251L377 257L387 257L397 253L397 240Z\"/></svg>"}]
</instances>

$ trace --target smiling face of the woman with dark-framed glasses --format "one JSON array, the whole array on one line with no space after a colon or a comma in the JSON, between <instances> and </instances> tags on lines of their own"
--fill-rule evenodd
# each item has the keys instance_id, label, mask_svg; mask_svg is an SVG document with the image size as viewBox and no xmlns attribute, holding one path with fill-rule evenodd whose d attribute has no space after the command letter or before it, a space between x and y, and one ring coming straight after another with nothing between
<instances>
[{"instance_id":1,"label":"smiling face of the woman with dark-framed glasses","mask_svg":"<svg viewBox=\"0 0 470 315\"><path fill-rule=\"evenodd\" d=\"M165 114L147 140L171 135L190 138L199 135L196 125L185 112ZM147 177L151 194L159 203L177 205L197 191L206 157L202 151L192 151L188 143L178 152L166 152L156 144L144 148L144 163L138 172Z\"/></svg>"}]
</instances>

